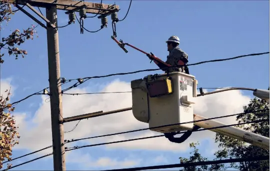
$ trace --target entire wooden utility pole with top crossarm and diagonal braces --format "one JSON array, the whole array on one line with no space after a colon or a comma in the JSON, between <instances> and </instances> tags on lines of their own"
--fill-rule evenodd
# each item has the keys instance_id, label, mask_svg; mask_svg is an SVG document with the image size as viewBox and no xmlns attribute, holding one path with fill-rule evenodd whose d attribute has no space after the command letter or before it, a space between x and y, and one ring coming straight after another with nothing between
<instances>
[{"instance_id":1,"label":"entire wooden utility pole with top crossarm and diagonal braces","mask_svg":"<svg viewBox=\"0 0 270 171\"><path fill-rule=\"evenodd\" d=\"M0 2L5 2L0 0ZM65 149L64 149L64 131L63 131L63 111L62 97L60 86L60 59L58 45L58 28L57 28L57 9L71 12L79 12L81 9L86 13L100 14L99 18L110 15L119 11L119 6L115 4L103 4L84 2L82 0L9 0L16 2L16 7L27 16L32 18L39 25L47 30L47 50L48 50L48 74L49 74L49 95L50 95L50 112L51 112L51 135L53 151L53 170L62 171L65 168ZM46 25L32 16L23 9L27 6L37 14ZM39 13L33 6L45 7L46 17ZM66 15L67 16L67 15Z\"/></svg>"}]
</instances>

